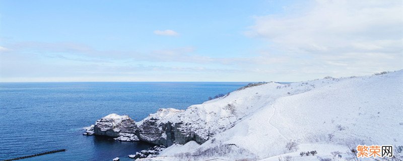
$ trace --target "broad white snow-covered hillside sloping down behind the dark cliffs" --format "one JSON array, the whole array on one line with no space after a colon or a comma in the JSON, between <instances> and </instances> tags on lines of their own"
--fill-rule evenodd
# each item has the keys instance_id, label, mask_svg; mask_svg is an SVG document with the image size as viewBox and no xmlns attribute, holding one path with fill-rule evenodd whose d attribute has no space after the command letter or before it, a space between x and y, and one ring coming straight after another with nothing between
<instances>
[{"instance_id":1,"label":"broad white snow-covered hillside sloping down behind the dark cliffs","mask_svg":"<svg viewBox=\"0 0 403 161\"><path fill-rule=\"evenodd\" d=\"M331 157L357 144L403 145L403 70L373 76L268 83L161 118L207 140L174 144L152 160L278 160L317 150ZM138 123L141 124L141 123ZM297 149L286 149L296 142ZM184 148L184 147L185 148ZM187 149L187 153L183 152ZM331 151L330 151L331 150Z\"/></svg>"}]
</instances>

